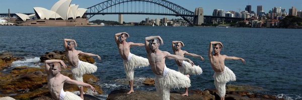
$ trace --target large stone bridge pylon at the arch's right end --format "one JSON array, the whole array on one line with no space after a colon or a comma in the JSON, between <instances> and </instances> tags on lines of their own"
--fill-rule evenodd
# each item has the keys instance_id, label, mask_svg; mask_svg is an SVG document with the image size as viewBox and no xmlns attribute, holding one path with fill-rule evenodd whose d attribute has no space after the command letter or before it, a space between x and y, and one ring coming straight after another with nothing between
<instances>
[{"instance_id":1,"label":"large stone bridge pylon at the arch's right end","mask_svg":"<svg viewBox=\"0 0 302 100\"><path fill-rule=\"evenodd\" d=\"M203 23L203 8L196 8L194 15L194 25L201 25Z\"/></svg>"}]
</instances>

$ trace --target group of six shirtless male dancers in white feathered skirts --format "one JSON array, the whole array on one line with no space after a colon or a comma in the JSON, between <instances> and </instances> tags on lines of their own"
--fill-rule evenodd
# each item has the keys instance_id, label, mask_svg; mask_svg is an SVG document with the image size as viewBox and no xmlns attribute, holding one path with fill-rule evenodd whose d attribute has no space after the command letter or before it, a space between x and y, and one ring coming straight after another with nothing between
<instances>
[{"instance_id":1,"label":"group of six shirtless male dancers in white feathered skirts","mask_svg":"<svg viewBox=\"0 0 302 100\"><path fill-rule=\"evenodd\" d=\"M127 42L126 39L129 38L129 34L126 32L116 33L114 38L123 59L126 77L129 79L130 90L127 92L128 94L134 92L133 80L135 68L150 66L155 74L155 87L158 96L160 99L165 100L170 99L170 89L172 88L185 88L185 93L182 95L188 96L188 87L191 86L190 75L200 75L202 73L201 67L194 65L190 59L184 56L199 57L201 60L204 60L204 58L200 55L182 50L181 47L185 46L182 41L172 41L174 54L170 54L167 51L159 49L160 45L164 44L160 36L145 37L144 44ZM147 58L132 54L130 52L130 47L132 46L144 46L147 52ZM90 87L95 91L92 85L83 82L83 75L96 72L97 66L79 60L79 55L95 56L98 57L99 60L101 60L101 57L96 54L75 50L74 47L77 47L75 40L64 39L67 61L69 65L72 66L71 72L74 80L60 73L61 68L66 68L62 60L50 59L45 61L45 71L48 75L48 89L53 99L84 99L83 86ZM226 82L236 80L234 72L224 65L224 60L241 60L245 63L243 58L221 55L220 51L222 48L223 45L221 42L212 41L210 42L208 51L209 62L214 70L214 84L220 99L224 99ZM166 66L166 58L175 59L178 65L178 71L169 69ZM78 85L80 96L64 91L64 82Z\"/></svg>"}]
</instances>

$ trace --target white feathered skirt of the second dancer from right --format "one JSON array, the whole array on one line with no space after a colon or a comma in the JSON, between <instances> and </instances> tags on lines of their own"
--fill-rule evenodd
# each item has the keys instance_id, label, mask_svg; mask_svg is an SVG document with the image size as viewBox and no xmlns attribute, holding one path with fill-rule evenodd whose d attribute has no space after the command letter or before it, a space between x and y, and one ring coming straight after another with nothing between
<instances>
[{"instance_id":1,"label":"white feathered skirt of the second dancer from right","mask_svg":"<svg viewBox=\"0 0 302 100\"><path fill-rule=\"evenodd\" d=\"M178 66L178 71L184 75L200 75L202 73L202 69L199 65L192 66L191 63L187 61L183 61L181 66Z\"/></svg>"}]
</instances>

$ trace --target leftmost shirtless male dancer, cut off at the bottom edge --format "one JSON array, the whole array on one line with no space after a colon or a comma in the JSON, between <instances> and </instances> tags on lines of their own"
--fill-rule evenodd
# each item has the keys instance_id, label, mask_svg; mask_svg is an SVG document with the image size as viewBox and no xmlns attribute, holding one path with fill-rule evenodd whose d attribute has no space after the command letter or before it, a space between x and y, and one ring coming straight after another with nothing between
<instances>
[{"instance_id":1,"label":"leftmost shirtless male dancer, cut off at the bottom edge","mask_svg":"<svg viewBox=\"0 0 302 100\"><path fill-rule=\"evenodd\" d=\"M52 99L70 99L70 100L80 100L82 99L80 96L75 95L72 92L64 91L63 86L64 82L69 84L76 84L90 87L93 91L95 88L87 83L82 81L72 80L67 76L64 76L60 73L61 67L66 68L66 65L62 60L46 60L45 61L45 71L47 73L47 81L48 81L48 90L52 96Z\"/></svg>"}]
</instances>

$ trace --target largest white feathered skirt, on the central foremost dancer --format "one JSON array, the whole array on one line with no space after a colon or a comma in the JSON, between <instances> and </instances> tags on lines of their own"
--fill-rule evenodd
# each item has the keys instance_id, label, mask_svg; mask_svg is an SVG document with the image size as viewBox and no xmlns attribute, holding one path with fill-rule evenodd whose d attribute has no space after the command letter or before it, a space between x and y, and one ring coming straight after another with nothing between
<instances>
[{"instance_id":1,"label":"largest white feathered skirt, on the central foremost dancer","mask_svg":"<svg viewBox=\"0 0 302 100\"><path fill-rule=\"evenodd\" d=\"M184 88L191 86L189 77L178 71L167 68L166 65L163 74L155 74L155 76L156 91L158 92L160 99L163 100L170 99L171 88Z\"/></svg>"}]
</instances>

